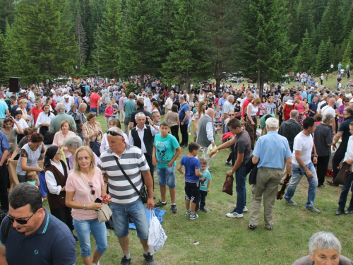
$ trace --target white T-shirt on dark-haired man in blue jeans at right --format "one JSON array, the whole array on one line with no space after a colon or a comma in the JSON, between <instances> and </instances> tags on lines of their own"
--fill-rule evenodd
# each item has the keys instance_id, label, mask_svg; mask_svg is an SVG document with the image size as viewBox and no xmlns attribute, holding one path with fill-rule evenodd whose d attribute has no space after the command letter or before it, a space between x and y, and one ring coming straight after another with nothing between
<instances>
[{"instance_id":1,"label":"white T-shirt on dark-haired man in blue jeans at right","mask_svg":"<svg viewBox=\"0 0 353 265\"><path fill-rule=\"evenodd\" d=\"M295 151L301 151L301 160L303 160L304 165L311 163L311 151L313 149L313 136L311 134L306 136L301 131L294 138L293 143L293 153L292 153L292 163L294 165L299 165L297 159L295 159Z\"/></svg>"}]
</instances>

